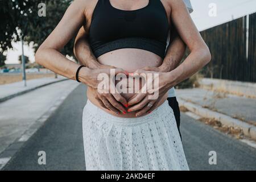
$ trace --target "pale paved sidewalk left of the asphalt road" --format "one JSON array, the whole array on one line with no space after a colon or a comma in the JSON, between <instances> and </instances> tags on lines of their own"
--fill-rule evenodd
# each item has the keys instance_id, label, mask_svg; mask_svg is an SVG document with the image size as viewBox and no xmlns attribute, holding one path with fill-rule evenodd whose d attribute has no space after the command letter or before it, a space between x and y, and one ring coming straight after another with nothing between
<instances>
[{"instance_id":1,"label":"pale paved sidewalk left of the asphalt road","mask_svg":"<svg viewBox=\"0 0 256 182\"><path fill-rule=\"evenodd\" d=\"M24 131L46 113L56 101L79 84L72 80L57 82L0 103L0 154Z\"/></svg>"}]
</instances>

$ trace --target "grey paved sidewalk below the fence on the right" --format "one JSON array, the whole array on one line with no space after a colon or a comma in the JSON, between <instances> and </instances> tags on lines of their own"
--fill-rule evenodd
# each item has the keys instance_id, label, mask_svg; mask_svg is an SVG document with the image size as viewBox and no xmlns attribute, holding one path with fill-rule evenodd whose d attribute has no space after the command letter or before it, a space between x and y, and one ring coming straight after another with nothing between
<instances>
[{"instance_id":1,"label":"grey paved sidewalk below the fence on the right","mask_svg":"<svg viewBox=\"0 0 256 182\"><path fill-rule=\"evenodd\" d=\"M239 97L200 88L176 89L177 96L210 110L256 125L256 99Z\"/></svg>"}]
</instances>

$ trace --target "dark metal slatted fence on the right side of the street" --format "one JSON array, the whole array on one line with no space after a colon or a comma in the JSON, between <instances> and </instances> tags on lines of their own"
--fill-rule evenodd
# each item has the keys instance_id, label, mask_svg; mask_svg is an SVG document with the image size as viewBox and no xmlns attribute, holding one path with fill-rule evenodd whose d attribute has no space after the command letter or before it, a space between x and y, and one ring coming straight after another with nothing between
<instances>
[{"instance_id":1,"label":"dark metal slatted fence on the right side of the street","mask_svg":"<svg viewBox=\"0 0 256 182\"><path fill-rule=\"evenodd\" d=\"M212 53L205 77L256 82L256 13L200 33Z\"/></svg>"}]
</instances>

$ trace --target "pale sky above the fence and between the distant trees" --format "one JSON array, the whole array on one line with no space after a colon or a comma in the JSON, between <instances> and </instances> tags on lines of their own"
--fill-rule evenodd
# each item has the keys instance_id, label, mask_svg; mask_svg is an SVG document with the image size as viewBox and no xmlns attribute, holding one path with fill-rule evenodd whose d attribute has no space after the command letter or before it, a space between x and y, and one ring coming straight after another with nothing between
<instances>
[{"instance_id":1,"label":"pale sky above the fence and between the distant trees","mask_svg":"<svg viewBox=\"0 0 256 182\"><path fill-rule=\"evenodd\" d=\"M193 13L191 17L199 31L241 18L256 12L256 0L191 0ZM6 64L19 63L22 53L21 43L13 43L13 50L7 51ZM34 62L32 45L24 46L24 55Z\"/></svg>"}]
</instances>

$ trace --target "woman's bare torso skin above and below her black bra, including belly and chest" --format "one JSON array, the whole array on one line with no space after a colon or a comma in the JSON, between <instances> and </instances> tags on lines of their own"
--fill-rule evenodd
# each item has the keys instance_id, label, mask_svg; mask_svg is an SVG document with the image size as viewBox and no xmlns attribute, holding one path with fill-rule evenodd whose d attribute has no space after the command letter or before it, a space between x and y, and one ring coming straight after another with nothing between
<instances>
[{"instance_id":1,"label":"woman's bare torso skin above and below her black bra, including belly and chest","mask_svg":"<svg viewBox=\"0 0 256 182\"><path fill-rule=\"evenodd\" d=\"M95 1L97 3L97 1ZM118 5L118 1L110 1L112 3L112 6L117 7L118 9L125 9L125 7L120 7ZM127 1L129 2L129 1ZM129 9L129 7L131 7L132 10L135 9L140 9L141 7L147 6L148 0L145 1L139 1L141 2L140 5L137 4L136 7L131 7L131 3L130 5L127 5L127 9ZM92 5L92 10L88 11L89 15L86 15L86 22L88 22L85 25L85 30L88 31L89 27L90 27L90 20L92 17L92 13L94 10L94 7L96 5L96 3L94 3L94 5ZM164 1L162 1L164 7L166 8L166 4L164 3ZM166 8L167 14L170 14L170 10L168 10ZM168 17L169 18L169 17ZM170 19L169 19L169 23L170 23ZM104 55L101 55L100 57L97 58L97 60L99 61L99 63L104 64L104 65L112 65L113 67L116 68L122 68L125 71L129 72L129 73L133 73L135 72L137 69L142 69L144 67L159 67L162 62L163 59L161 57L159 57L158 55L156 55L155 53L143 50L143 49L135 49L135 48L122 48L122 49L117 49L108 53L105 53ZM121 95L123 97L126 98L126 100L128 101L129 98L133 97L135 93L121 93ZM167 99L167 95L168 93L166 93L164 95L164 97L162 98L162 100L159 102L158 106L162 105L164 101L166 101ZM94 97L94 94L92 93L92 88L88 87L87 90L87 97L90 100L90 102L92 102L94 105L100 107L102 110L105 110L107 113L115 115L117 117L125 117L125 118L134 118L135 117L135 112L130 112L130 113L126 113L126 114L115 114L114 111L110 111L105 109L104 107L102 107L100 104L98 104L98 101L96 100L96 98ZM141 115L143 116L143 115ZM140 116L140 117L141 117Z\"/></svg>"}]
</instances>

